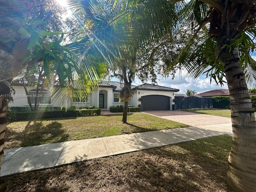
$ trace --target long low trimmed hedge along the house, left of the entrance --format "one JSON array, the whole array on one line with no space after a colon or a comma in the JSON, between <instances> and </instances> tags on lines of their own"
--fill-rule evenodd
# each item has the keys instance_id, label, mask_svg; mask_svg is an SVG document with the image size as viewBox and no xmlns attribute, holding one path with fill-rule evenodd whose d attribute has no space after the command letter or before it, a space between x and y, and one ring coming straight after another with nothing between
<instances>
[{"instance_id":1,"label":"long low trimmed hedge along the house, left of the entrance","mask_svg":"<svg viewBox=\"0 0 256 192\"><path fill-rule=\"evenodd\" d=\"M81 109L67 111L34 111L34 112L17 112L16 121L20 120L38 120L44 118L58 117L78 117L78 116L93 116L100 115L101 109Z\"/></svg>"}]
</instances>

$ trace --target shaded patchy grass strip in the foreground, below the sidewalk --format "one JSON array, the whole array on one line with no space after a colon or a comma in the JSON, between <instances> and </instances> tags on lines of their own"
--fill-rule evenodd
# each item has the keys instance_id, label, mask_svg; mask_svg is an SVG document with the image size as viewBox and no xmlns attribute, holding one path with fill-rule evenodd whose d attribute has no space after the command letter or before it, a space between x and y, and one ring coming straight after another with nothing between
<instances>
[{"instance_id":1,"label":"shaded patchy grass strip in the foreground, below the sidewalk","mask_svg":"<svg viewBox=\"0 0 256 192\"><path fill-rule=\"evenodd\" d=\"M232 137L214 136L0 177L0 191L231 192Z\"/></svg>"}]
</instances>

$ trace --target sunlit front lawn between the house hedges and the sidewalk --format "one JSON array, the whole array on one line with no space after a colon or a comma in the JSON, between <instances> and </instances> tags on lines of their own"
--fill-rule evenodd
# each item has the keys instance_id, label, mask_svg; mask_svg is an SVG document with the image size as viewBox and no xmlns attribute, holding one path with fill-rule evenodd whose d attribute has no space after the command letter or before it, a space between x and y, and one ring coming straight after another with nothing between
<instances>
[{"instance_id":1,"label":"sunlit front lawn between the house hedges and the sidewalk","mask_svg":"<svg viewBox=\"0 0 256 192\"><path fill-rule=\"evenodd\" d=\"M121 120L116 114L13 122L6 129L5 148L188 127L144 113L128 115L129 124Z\"/></svg>"}]
</instances>

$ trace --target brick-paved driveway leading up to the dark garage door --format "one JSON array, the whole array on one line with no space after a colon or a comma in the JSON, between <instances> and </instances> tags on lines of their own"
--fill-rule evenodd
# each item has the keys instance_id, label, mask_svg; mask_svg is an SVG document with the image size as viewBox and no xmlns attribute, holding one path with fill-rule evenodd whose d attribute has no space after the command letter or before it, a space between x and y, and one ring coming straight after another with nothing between
<instances>
[{"instance_id":1,"label":"brick-paved driveway leading up to the dark garage door","mask_svg":"<svg viewBox=\"0 0 256 192\"><path fill-rule=\"evenodd\" d=\"M143 111L143 112L154 115L154 116L158 116L164 119L184 123L190 126L204 126L204 125L231 123L231 119L228 117L204 115L204 114L198 114L198 113L184 112L180 110Z\"/></svg>"}]
</instances>

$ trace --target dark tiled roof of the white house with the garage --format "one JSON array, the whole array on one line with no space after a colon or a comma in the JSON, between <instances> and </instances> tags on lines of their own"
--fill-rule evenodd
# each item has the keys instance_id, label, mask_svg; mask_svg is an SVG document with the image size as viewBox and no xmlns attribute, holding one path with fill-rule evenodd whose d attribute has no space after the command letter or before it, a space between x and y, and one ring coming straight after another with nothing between
<instances>
[{"instance_id":1,"label":"dark tiled roof of the white house with the garage","mask_svg":"<svg viewBox=\"0 0 256 192\"><path fill-rule=\"evenodd\" d=\"M100 82L99 83L100 87L111 87L114 86L116 88L113 88L114 91L120 91L124 87L124 83L120 82L115 82L115 81L109 81L109 82ZM134 86L131 85L132 90L158 90L158 91L173 91L173 92L178 92L178 89L173 89L169 87L164 87L164 86L158 86L158 85L152 85L148 83L144 83L142 85Z\"/></svg>"}]
</instances>

